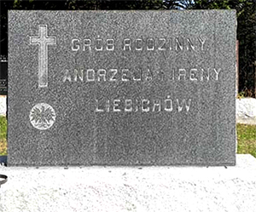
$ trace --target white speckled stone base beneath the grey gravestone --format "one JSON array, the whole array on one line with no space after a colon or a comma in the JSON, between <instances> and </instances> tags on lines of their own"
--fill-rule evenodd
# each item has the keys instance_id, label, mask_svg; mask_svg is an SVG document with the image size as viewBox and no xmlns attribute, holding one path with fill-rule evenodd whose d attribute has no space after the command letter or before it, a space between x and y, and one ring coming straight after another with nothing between
<instances>
[{"instance_id":1,"label":"white speckled stone base beneath the grey gravestone","mask_svg":"<svg viewBox=\"0 0 256 212\"><path fill-rule=\"evenodd\" d=\"M235 167L0 167L0 211L256 211L256 159Z\"/></svg>"}]
</instances>

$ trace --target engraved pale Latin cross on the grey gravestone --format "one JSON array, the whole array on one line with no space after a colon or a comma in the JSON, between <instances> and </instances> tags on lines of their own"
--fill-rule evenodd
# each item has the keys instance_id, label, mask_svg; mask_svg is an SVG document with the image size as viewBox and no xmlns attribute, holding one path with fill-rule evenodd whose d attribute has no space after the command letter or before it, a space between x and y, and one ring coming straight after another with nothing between
<instances>
[{"instance_id":1,"label":"engraved pale Latin cross on the grey gravestone","mask_svg":"<svg viewBox=\"0 0 256 212\"><path fill-rule=\"evenodd\" d=\"M38 87L48 86L48 45L56 44L56 37L47 36L47 25L39 25L38 37L30 37L30 44L39 45L38 51Z\"/></svg>"}]
</instances>

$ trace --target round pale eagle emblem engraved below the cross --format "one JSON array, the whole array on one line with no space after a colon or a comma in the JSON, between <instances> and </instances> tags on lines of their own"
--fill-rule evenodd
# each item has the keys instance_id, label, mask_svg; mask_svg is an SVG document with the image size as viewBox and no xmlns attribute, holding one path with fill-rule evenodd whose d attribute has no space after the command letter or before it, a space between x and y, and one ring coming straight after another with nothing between
<instances>
[{"instance_id":1,"label":"round pale eagle emblem engraved below the cross","mask_svg":"<svg viewBox=\"0 0 256 212\"><path fill-rule=\"evenodd\" d=\"M55 123L55 110L46 103L38 103L29 114L30 122L36 129L49 129Z\"/></svg>"}]
</instances>

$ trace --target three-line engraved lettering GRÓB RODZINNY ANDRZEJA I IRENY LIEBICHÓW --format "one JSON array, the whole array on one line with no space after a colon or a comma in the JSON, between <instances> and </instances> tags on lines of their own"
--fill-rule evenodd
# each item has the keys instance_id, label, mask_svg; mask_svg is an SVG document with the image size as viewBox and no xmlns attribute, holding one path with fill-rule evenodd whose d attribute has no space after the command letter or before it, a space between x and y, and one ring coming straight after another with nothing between
<instances>
[{"instance_id":1,"label":"three-line engraved lettering GR\u00d3B RODZINNY ANDRZEJA I IRENY LIEBICH\u00d3W","mask_svg":"<svg viewBox=\"0 0 256 212\"><path fill-rule=\"evenodd\" d=\"M124 38L116 41L113 38L73 38L71 41L71 50L73 52L108 52L114 50L120 51L165 51L181 52L189 51L191 54L198 51L204 51L207 39L202 37L143 37L143 38ZM102 82L150 82L160 81L218 81L221 68L183 68L175 67L169 64L167 72L157 70L157 72L144 69L129 69L125 67L113 67L110 69L93 69L84 67L80 69L64 70L63 83L102 83ZM164 97L163 97L164 98ZM116 99L116 100L96 100L95 112L189 112L191 99L174 99L170 95L166 99Z\"/></svg>"}]
</instances>

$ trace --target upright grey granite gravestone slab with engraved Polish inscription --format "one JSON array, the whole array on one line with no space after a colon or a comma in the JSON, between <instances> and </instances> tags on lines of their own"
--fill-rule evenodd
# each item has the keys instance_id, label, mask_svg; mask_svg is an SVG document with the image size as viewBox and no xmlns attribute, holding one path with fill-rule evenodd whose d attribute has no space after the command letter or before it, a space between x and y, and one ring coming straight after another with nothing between
<instances>
[{"instance_id":1,"label":"upright grey granite gravestone slab with engraved Polish inscription","mask_svg":"<svg viewBox=\"0 0 256 212\"><path fill-rule=\"evenodd\" d=\"M236 11L9 11L8 164L235 165Z\"/></svg>"}]
</instances>

